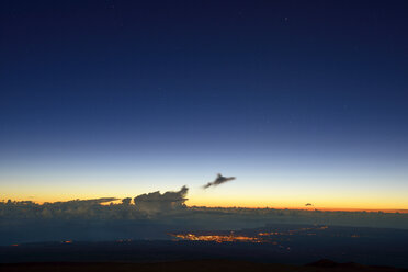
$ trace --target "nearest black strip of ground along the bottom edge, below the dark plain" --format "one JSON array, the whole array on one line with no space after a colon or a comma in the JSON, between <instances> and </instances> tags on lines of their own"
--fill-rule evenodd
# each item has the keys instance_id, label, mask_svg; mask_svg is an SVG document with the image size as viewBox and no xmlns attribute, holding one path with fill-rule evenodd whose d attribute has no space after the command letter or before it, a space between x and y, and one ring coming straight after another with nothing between
<instances>
[{"instance_id":1,"label":"nearest black strip of ground along the bottom edge, below the dark plain","mask_svg":"<svg viewBox=\"0 0 408 272\"><path fill-rule=\"evenodd\" d=\"M254 263L231 260L196 260L196 261L175 261L157 263L14 263L0 264L0 271L10 272L76 272L76 271L98 271L98 272L154 272L154 271L276 271L276 272L407 272L407 270L367 267L358 263L336 263L329 260L321 260L306 265L288 265L274 263Z\"/></svg>"}]
</instances>

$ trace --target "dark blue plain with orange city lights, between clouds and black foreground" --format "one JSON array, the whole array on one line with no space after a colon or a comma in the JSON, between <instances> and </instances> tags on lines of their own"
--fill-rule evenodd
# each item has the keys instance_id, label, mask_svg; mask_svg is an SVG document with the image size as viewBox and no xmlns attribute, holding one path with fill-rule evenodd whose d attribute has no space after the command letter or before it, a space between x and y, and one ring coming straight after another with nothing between
<instances>
[{"instance_id":1,"label":"dark blue plain with orange city lights, between clouds and black foreground","mask_svg":"<svg viewBox=\"0 0 408 272\"><path fill-rule=\"evenodd\" d=\"M305 264L321 259L408 268L408 231L325 225L161 233L166 239L63 240L0 246L0 263L239 260Z\"/></svg>"}]
</instances>

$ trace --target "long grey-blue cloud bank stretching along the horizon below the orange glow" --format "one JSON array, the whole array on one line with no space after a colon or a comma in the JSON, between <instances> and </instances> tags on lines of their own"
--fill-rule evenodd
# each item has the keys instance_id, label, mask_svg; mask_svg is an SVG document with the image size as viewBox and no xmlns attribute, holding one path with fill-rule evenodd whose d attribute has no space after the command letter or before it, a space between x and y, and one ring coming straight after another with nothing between
<instances>
[{"instance_id":1,"label":"long grey-blue cloud bank stretching along the horizon below the orange glow","mask_svg":"<svg viewBox=\"0 0 408 272\"><path fill-rule=\"evenodd\" d=\"M169 239L169 231L325 224L408 229L408 214L186 206L189 189L116 199L0 202L0 245L55 240ZM107 205L101 205L101 204Z\"/></svg>"}]
</instances>

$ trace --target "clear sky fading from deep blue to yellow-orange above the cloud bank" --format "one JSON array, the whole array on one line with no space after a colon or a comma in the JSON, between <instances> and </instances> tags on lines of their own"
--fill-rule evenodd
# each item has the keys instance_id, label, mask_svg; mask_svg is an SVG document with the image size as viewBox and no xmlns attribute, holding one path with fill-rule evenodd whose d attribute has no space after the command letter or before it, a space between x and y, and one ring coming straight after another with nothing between
<instances>
[{"instance_id":1,"label":"clear sky fading from deep blue to yellow-orange above the cloud bank","mask_svg":"<svg viewBox=\"0 0 408 272\"><path fill-rule=\"evenodd\" d=\"M0 200L408 208L407 1L1 1ZM237 180L202 190L216 173Z\"/></svg>"}]
</instances>

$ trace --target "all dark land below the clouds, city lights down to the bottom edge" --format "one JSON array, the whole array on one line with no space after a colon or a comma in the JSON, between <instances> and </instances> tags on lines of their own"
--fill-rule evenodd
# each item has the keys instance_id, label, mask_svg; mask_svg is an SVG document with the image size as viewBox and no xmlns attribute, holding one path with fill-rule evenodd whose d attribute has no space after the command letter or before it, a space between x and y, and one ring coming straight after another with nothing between
<instances>
[{"instance_id":1,"label":"all dark land below the clouds, city lights down to the bottom edge","mask_svg":"<svg viewBox=\"0 0 408 272\"><path fill-rule=\"evenodd\" d=\"M217 271L223 265L230 265L225 268L228 271L233 269L237 271L398 271L379 269L378 265L408 269L408 230L401 229L271 225L234 231L172 231L167 233L166 237L166 240L69 239L0 246L0 269L3 271L161 271L166 269L166 272L188 269L201 271L208 265L205 271ZM317 270L316 265L304 267L305 263L325 259L349 264L319 262ZM246 268L248 270L245 270Z\"/></svg>"}]
</instances>

